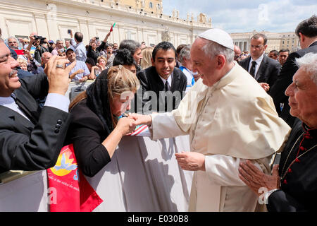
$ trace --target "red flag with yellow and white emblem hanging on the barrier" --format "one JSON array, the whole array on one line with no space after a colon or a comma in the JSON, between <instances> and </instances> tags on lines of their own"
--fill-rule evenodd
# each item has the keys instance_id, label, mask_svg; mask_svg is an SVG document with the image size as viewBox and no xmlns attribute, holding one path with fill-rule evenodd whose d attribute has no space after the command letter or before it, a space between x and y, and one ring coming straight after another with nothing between
<instances>
[{"instance_id":1,"label":"red flag with yellow and white emblem hanging on the barrier","mask_svg":"<svg viewBox=\"0 0 317 226\"><path fill-rule=\"evenodd\" d=\"M47 176L51 212L88 212L103 202L78 169L73 144L61 149Z\"/></svg>"}]
</instances>

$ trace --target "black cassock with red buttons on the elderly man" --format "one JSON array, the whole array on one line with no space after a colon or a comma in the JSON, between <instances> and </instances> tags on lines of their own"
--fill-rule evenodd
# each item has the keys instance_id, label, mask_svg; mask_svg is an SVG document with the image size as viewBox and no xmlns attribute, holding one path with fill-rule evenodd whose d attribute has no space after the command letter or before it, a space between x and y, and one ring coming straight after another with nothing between
<instances>
[{"instance_id":1,"label":"black cassock with red buttons on the elderly man","mask_svg":"<svg viewBox=\"0 0 317 226\"><path fill-rule=\"evenodd\" d=\"M306 135L307 133L309 136ZM290 138L280 157L281 187L268 197L268 211L316 212L317 147L314 147L316 144L317 129L308 130L302 121L295 119ZM299 145L306 150L299 150ZM297 157L299 161L294 161L297 153L299 153Z\"/></svg>"}]
</instances>

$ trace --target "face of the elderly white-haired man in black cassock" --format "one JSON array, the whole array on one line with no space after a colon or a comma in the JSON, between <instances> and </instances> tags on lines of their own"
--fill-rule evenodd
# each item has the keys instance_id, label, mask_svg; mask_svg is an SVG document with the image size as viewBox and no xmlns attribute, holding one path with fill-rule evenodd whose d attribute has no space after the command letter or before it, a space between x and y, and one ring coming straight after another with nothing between
<instances>
[{"instance_id":1,"label":"face of the elderly white-haired man in black cassock","mask_svg":"<svg viewBox=\"0 0 317 226\"><path fill-rule=\"evenodd\" d=\"M310 74L300 68L293 76L293 82L286 89L290 105L290 114L304 121L309 126L317 116L317 85L313 83Z\"/></svg>"}]
</instances>

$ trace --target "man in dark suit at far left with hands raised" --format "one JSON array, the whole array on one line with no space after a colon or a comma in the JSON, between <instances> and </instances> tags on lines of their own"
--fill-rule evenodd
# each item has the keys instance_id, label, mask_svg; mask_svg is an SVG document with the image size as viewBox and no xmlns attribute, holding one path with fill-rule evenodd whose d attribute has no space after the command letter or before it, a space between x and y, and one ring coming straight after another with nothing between
<instances>
[{"instance_id":1,"label":"man in dark suit at far left with hands raised","mask_svg":"<svg viewBox=\"0 0 317 226\"><path fill-rule=\"evenodd\" d=\"M18 78L18 62L0 39L0 172L53 167L63 145L70 117L68 61L52 58L47 75ZM47 95L42 111L35 100Z\"/></svg>"}]
</instances>

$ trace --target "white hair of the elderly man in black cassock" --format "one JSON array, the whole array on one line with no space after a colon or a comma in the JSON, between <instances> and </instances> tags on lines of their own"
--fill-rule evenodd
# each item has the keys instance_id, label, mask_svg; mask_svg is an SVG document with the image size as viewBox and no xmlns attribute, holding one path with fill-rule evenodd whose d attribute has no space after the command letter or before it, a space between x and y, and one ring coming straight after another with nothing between
<instances>
[{"instance_id":1,"label":"white hair of the elderly man in black cassock","mask_svg":"<svg viewBox=\"0 0 317 226\"><path fill-rule=\"evenodd\" d=\"M311 80L317 85L317 54L309 52L301 58L296 58L299 68L311 74Z\"/></svg>"}]
</instances>

